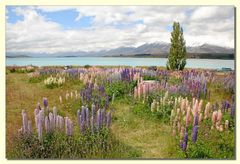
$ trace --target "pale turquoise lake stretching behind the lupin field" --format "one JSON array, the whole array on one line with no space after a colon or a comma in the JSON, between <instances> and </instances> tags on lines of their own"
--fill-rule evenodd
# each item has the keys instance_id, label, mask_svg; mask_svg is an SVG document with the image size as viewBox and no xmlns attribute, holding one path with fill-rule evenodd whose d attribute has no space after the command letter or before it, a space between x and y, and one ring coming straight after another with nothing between
<instances>
[{"instance_id":1,"label":"pale turquoise lake stretching behind the lupin field","mask_svg":"<svg viewBox=\"0 0 240 164\"><path fill-rule=\"evenodd\" d=\"M166 66L167 58L123 58L123 57L43 57L6 58L7 66L56 66L56 65L125 65L125 66ZM187 68L234 69L234 60L187 59Z\"/></svg>"}]
</instances>

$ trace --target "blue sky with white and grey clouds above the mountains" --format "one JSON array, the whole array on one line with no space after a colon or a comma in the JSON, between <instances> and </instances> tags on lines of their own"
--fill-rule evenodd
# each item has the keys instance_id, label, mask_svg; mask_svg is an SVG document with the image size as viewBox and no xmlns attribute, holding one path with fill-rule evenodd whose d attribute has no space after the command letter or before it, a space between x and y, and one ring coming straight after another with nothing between
<instances>
[{"instance_id":1,"label":"blue sky with white and grey clouds above the mountains","mask_svg":"<svg viewBox=\"0 0 240 164\"><path fill-rule=\"evenodd\" d=\"M7 53L64 53L170 43L234 48L233 6L7 6Z\"/></svg>"}]
</instances>

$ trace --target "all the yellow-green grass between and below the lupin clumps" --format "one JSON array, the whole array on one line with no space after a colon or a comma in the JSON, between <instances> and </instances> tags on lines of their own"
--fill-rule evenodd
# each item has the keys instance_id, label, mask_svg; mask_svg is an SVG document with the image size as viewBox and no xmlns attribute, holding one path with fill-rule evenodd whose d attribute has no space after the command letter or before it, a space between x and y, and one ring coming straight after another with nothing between
<instances>
[{"instance_id":1,"label":"all the yellow-green grass between and below the lupin clumps","mask_svg":"<svg viewBox=\"0 0 240 164\"><path fill-rule=\"evenodd\" d=\"M170 83L177 84L179 81L176 79L171 79ZM49 100L49 106L56 106L58 109L58 113L62 116L68 116L73 121L76 120L76 112L77 109L81 106L80 100L69 100L65 102L65 93L67 91L75 91L80 90L83 87L83 83L77 80L68 81L63 84L63 86L59 88L48 89L43 81L35 81L29 82L29 77L26 73L8 73L6 75L6 156L8 159L16 158L16 151L19 152L19 158L26 157L31 158L32 154L21 154L21 143L19 150L14 150L16 145L16 133L17 129L21 126L21 111L25 109L30 116L31 120L33 118L34 109L37 106L37 102L42 104L43 97L47 97ZM114 85L116 90L121 89L121 85ZM231 93L222 91L214 86L210 86L211 90L211 102L216 102L217 100L227 99L231 100ZM59 103L59 95L62 96L64 103ZM112 95L112 93L110 93ZM117 95L117 94L116 94ZM55 140L49 140L49 143L45 148L50 148L55 152L60 152L59 154L53 154L53 156L47 156L45 152L45 156L41 156L41 154L37 150L39 147L36 146L36 138L27 140L30 143L32 152L35 152L36 158L60 158L60 159L79 159L81 158L161 158L161 159L179 159L185 158L184 154L179 154L178 140L172 137L172 131L169 123L164 123L163 121L157 119L156 117L151 117L149 113L141 113L136 114L134 112L134 108L136 107L136 103L133 101L132 96L128 96L127 94L122 94L119 97L115 98L114 104L111 104L111 109L113 110L113 123L111 126L111 137L109 138L109 142L114 145L111 147L110 152L101 152L97 155L84 156L79 153L71 154L67 152L69 149L69 142L78 142L81 136L76 136L72 138L72 140L66 141L66 138L60 137L57 142ZM205 129L206 130L206 129ZM204 132L202 132L204 133ZM56 138L59 134L54 134L53 138ZM59 138L59 137L58 137ZM214 139L220 138L220 144L218 141L214 141ZM206 138L201 138L203 141L208 142ZM225 135L219 136L219 133L212 134L212 138L208 138L209 140L213 140L213 142L209 142L211 147L214 147L219 144L219 147L214 147L212 150L213 154L215 154L216 158L224 158L224 156L230 156L231 153L221 154L218 153L219 150L222 149L222 152L230 152L233 151L234 147L234 135L233 132L226 133ZM228 140L229 139L229 140ZM55 144L54 144L55 143ZM58 145L60 143L66 143L67 146L64 147L66 151L63 151L61 154L60 148ZM50 146L49 146L50 145ZM74 144L76 145L76 144ZM202 145L202 143L197 143L197 145ZM229 145L227 147L226 145ZM190 150L193 152L196 150L196 146L192 146ZM207 151L208 147L205 145L202 147L202 152ZM62 148L61 148L62 149ZM50 149L51 150L51 149ZM71 149L72 150L72 149ZM75 147L75 150L82 150L82 147ZM28 152L28 151L27 151ZM70 151L71 152L71 151ZM29 153L29 152L28 152ZM199 151L197 151L199 153ZM44 154L44 153L43 153ZM195 154L189 154L189 156L194 156ZM17 156L17 157L18 157ZM33 157L34 158L34 157Z\"/></svg>"}]
</instances>

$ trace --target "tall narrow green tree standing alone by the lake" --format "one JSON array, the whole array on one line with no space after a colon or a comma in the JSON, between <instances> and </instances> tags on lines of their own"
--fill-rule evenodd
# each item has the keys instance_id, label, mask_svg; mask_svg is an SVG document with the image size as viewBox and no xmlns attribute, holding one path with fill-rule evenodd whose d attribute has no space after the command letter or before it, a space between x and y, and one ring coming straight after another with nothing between
<instances>
[{"instance_id":1,"label":"tall narrow green tree standing alone by the lake","mask_svg":"<svg viewBox=\"0 0 240 164\"><path fill-rule=\"evenodd\" d=\"M179 22L173 23L171 33L171 47L168 55L167 69L183 70L186 65L186 43L183 38L183 29Z\"/></svg>"}]
</instances>

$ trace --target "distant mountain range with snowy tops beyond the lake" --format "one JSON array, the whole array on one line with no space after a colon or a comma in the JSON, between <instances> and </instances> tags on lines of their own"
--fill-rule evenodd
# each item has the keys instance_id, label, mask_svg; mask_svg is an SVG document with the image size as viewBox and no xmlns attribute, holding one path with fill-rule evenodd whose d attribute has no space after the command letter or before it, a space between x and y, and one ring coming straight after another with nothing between
<instances>
[{"instance_id":1,"label":"distant mountain range with snowy tops beyond the lake","mask_svg":"<svg viewBox=\"0 0 240 164\"><path fill-rule=\"evenodd\" d=\"M7 57L29 56L29 57L167 57L170 49L170 43L155 42L146 43L138 47L118 47L110 50L101 51L78 51L78 52L64 52L64 53L7 53ZM203 44L200 46L187 47L188 57L190 58L234 58L234 49L220 47L210 44Z\"/></svg>"}]
</instances>

